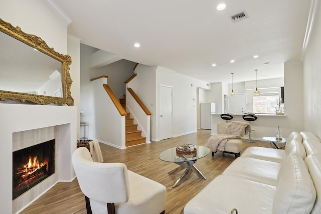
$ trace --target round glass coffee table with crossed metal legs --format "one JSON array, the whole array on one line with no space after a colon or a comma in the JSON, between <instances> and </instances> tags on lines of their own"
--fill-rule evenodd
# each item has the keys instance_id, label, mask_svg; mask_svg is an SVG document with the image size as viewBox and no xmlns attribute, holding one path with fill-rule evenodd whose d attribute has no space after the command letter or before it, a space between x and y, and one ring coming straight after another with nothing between
<instances>
[{"instance_id":1,"label":"round glass coffee table with crossed metal legs","mask_svg":"<svg viewBox=\"0 0 321 214\"><path fill-rule=\"evenodd\" d=\"M167 149L159 154L159 159L166 162L172 162L180 165L176 169L173 169L172 171L170 171L169 174L175 174L186 168L186 170L181 175L181 177L173 185L173 188L181 184L184 178L186 177L186 175L191 170L193 170L200 178L206 179L206 177L200 172L200 170L196 168L194 163L196 163L198 159L208 155L211 152L211 150L206 146L195 145L195 148L196 148L195 154L184 155L184 154L178 154L176 152L176 148L177 147Z\"/></svg>"}]
</instances>

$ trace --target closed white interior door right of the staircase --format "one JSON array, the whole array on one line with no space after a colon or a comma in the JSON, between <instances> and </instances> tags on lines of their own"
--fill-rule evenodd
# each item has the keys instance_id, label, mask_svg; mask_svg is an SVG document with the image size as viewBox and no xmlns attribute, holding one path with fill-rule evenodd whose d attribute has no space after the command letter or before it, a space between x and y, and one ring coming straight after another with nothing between
<instances>
[{"instance_id":1,"label":"closed white interior door right of the staircase","mask_svg":"<svg viewBox=\"0 0 321 214\"><path fill-rule=\"evenodd\" d=\"M159 85L159 139L173 137L172 87Z\"/></svg>"}]
</instances>

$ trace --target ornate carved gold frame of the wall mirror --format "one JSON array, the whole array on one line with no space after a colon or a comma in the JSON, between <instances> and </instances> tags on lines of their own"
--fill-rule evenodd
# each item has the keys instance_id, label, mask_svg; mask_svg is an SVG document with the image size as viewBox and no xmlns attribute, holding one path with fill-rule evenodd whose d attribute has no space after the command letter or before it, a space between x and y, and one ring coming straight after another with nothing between
<instances>
[{"instance_id":1,"label":"ornate carved gold frame of the wall mirror","mask_svg":"<svg viewBox=\"0 0 321 214\"><path fill-rule=\"evenodd\" d=\"M51 97L37 94L27 94L20 92L4 91L1 90L0 86L0 100L4 101L6 99L11 100L20 100L22 103L25 101L31 101L37 104L50 104L50 103L62 103L67 104L68 106L74 105L74 99L71 96L70 88L72 80L69 74L69 66L71 65L71 57L68 55L59 54L55 51L54 48L49 48L45 41L40 37L35 35L24 33L19 27L13 27L10 23L7 23L0 19L0 31L41 51L42 53L58 60L62 63L62 88L63 96L62 97ZM0 71L2 72L2 71Z\"/></svg>"}]
</instances>

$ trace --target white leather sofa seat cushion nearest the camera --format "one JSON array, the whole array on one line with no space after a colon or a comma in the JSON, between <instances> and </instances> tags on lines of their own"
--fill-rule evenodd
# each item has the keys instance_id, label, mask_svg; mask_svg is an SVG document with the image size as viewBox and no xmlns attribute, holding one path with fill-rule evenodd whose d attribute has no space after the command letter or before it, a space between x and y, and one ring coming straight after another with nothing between
<instances>
[{"instance_id":1,"label":"white leather sofa seat cushion nearest the camera","mask_svg":"<svg viewBox=\"0 0 321 214\"><path fill-rule=\"evenodd\" d=\"M237 158L239 159L239 158ZM219 175L184 207L184 214L238 213L271 214L275 186Z\"/></svg>"}]
</instances>

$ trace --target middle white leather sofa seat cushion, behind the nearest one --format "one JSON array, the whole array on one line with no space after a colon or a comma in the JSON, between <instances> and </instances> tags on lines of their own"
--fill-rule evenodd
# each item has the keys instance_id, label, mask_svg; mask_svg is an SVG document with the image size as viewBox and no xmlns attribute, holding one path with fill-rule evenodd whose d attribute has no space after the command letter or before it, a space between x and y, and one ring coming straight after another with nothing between
<instances>
[{"instance_id":1,"label":"middle white leather sofa seat cushion, behind the nearest one","mask_svg":"<svg viewBox=\"0 0 321 214\"><path fill-rule=\"evenodd\" d=\"M281 163L241 156L235 159L222 174L276 186L280 167Z\"/></svg>"}]
</instances>

